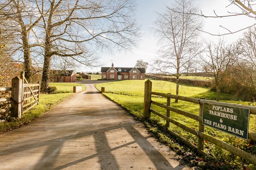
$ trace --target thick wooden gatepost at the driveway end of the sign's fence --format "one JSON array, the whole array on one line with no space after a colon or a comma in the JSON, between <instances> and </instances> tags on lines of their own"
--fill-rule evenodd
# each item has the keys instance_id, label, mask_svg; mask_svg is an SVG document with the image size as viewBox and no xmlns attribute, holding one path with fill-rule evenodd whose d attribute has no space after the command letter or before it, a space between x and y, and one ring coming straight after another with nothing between
<instances>
[{"instance_id":1,"label":"thick wooden gatepost at the driveway end of the sign's fence","mask_svg":"<svg viewBox=\"0 0 256 170\"><path fill-rule=\"evenodd\" d=\"M150 118L151 113L151 92L152 92L152 82L150 80L145 81L144 89L144 112L143 118Z\"/></svg>"}]
</instances>

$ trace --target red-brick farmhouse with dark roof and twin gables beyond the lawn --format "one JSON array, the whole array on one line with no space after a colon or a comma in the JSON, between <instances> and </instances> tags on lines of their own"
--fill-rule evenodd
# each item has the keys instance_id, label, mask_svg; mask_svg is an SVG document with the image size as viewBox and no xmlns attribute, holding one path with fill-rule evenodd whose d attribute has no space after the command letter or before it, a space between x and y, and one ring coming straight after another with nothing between
<instances>
[{"instance_id":1,"label":"red-brick farmhouse with dark roof and twin gables beyond the lawn","mask_svg":"<svg viewBox=\"0 0 256 170\"><path fill-rule=\"evenodd\" d=\"M101 67L102 80L145 80L145 68Z\"/></svg>"}]
</instances>

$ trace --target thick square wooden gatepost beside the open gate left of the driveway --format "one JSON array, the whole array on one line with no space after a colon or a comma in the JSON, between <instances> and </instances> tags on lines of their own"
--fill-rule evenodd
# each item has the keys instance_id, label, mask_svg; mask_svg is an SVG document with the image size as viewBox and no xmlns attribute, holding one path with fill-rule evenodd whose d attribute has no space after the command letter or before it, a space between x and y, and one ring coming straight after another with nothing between
<instances>
[{"instance_id":1,"label":"thick square wooden gatepost beside the open gate left of the driveway","mask_svg":"<svg viewBox=\"0 0 256 170\"><path fill-rule=\"evenodd\" d=\"M12 79L12 101L11 116L21 118L22 114L22 79L15 77Z\"/></svg>"}]
</instances>

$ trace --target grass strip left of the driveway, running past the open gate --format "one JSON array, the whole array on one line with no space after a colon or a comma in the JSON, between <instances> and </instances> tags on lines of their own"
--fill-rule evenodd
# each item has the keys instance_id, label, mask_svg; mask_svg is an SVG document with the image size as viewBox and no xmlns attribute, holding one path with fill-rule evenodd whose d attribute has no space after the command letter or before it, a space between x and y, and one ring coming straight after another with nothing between
<instances>
[{"instance_id":1,"label":"grass strip left of the driveway, running past the open gate","mask_svg":"<svg viewBox=\"0 0 256 170\"><path fill-rule=\"evenodd\" d=\"M56 86L58 93L40 94L39 104L30 111L26 112L21 119L7 117L6 119L8 119L8 121L0 124L0 133L21 127L22 125L27 124L33 119L39 117L41 114L47 112L48 110L71 96L73 94L73 86L83 86L83 90L85 89L84 85L75 83L50 83L49 85Z\"/></svg>"}]
</instances>

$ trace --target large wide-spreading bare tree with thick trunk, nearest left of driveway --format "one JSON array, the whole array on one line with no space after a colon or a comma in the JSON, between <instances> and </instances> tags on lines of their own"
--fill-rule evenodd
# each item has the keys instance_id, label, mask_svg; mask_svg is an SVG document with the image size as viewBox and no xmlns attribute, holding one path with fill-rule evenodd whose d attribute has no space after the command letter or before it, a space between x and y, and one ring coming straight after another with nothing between
<instances>
[{"instance_id":1,"label":"large wide-spreading bare tree with thick trunk, nearest left of driveway","mask_svg":"<svg viewBox=\"0 0 256 170\"><path fill-rule=\"evenodd\" d=\"M41 88L48 91L51 58L58 55L93 66L98 49L130 50L139 27L133 0L36 0L42 16L44 66Z\"/></svg>"}]
</instances>

